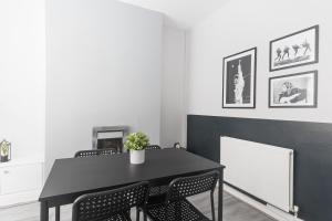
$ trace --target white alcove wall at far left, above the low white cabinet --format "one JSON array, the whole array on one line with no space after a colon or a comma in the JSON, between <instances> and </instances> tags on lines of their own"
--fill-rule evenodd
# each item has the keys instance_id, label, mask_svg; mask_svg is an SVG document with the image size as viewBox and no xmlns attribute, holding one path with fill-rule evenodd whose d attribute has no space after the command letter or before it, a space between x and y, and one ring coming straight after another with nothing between
<instances>
[{"instance_id":1,"label":"white alcove wall at far left, above the low white cabinet","mask_svg":"<svg viewBox=\"0 0 332 221\"><path fill-rule=\"evenodd\" d=\"M0 1L0 139L12 143L13 159L44 155L44 7Z\"/></svg>"}]
</instances>

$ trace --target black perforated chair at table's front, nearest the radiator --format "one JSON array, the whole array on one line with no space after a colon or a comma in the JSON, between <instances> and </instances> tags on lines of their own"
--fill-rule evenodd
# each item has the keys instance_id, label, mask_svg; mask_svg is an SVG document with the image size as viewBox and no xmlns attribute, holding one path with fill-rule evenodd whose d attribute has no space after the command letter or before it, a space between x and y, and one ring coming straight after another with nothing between
<instances>
[{"instance_id":1,"label":"black perforated chair at table's front, nearest the radiator","mask_svg":"<svg viewBox=\"0 0 332 221\"><path fill-rule=\"evenodd\" d=\"M218 171L178 178L170 182L166 200L148 203L146 212L153 221L209 221L186 198L201 192L210 192L212 221L216 220L214 191L219 178Z\"/></svg>"}]
</instances>

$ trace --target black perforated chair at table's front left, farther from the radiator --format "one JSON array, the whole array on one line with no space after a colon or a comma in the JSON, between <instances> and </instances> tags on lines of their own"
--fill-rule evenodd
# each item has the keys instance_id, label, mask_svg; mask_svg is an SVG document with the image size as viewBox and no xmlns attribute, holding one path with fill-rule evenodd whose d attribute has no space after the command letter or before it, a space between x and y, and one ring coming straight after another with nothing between
<instances>
[{"instance_id":1,"label":"black perforated chair at table's front left, farther from the radiator","mask_svg":"<svg viewBox=\"0 0 332 221\"><path fill-rule=\"evenodd\" d=\"M83 194L74 201L72 221L132 221L132 208L143 208L145 214L148 187L148 182L138 182L115 190Z\"/></svg>"}]
</instances>

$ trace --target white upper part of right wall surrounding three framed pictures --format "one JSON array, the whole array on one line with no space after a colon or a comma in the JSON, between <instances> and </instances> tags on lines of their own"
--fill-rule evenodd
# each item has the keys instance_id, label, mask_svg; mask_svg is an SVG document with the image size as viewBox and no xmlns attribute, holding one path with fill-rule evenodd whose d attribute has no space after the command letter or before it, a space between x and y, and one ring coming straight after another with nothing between
<instances>
[{"instance_id":1,"label":"white upper part of right wall surrounding three framed pictures","mask_svg":"<svg viewBox=\"0 0 332 221\"><path fill-rule=\"evenodd\" d=\"M320 24L320 62L269 73L269 41ZM189 114L332 122L330 1L231 0L189 34ZM258 48L257 108L222 109L222 57ZM269 77L319 70L317 109L268 108Z\"/></svg>"}]
</instances>

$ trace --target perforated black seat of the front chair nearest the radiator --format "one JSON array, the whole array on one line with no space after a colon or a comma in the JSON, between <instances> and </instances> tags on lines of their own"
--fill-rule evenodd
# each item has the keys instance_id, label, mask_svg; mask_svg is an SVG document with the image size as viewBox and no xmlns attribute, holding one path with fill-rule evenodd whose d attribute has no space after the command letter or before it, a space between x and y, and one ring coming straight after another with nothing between
<instances>
[{"instance_id":1,"label":"perforated black seat of the front chair nearest the radiator","mask_svg":"<svg viewBox=\"0 0 332 221\"><path fill-rule=\"evenodd\" d=\"M153 221L210 221L186 199L169 203L168 215L165 203L148 204L147 215Z\"/></svg>"}]
</instances>

